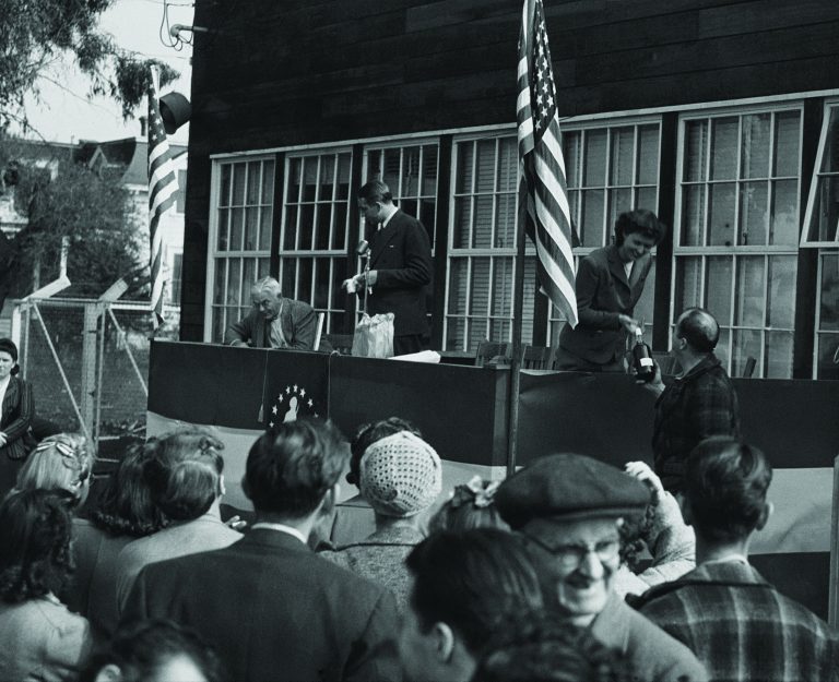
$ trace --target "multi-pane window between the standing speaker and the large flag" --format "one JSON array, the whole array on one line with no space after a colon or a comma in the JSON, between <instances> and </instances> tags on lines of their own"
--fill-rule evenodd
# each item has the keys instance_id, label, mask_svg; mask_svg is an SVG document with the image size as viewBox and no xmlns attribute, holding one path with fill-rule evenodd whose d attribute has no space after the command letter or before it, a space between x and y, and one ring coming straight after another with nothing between
<instances>
[{"instance_id":1,"label":"multi-pane window between the standing speaker and the large flag","mask_svg":"<svg viewBox=\"0 0 839 682\"><path fill-rule=\"evenodd\" d=\"M454 143L444 346L510 340L516 266L518 149L515 135ZM524 265L522 340L533 335L535 260Z\"/></svg>"}]
</instances>

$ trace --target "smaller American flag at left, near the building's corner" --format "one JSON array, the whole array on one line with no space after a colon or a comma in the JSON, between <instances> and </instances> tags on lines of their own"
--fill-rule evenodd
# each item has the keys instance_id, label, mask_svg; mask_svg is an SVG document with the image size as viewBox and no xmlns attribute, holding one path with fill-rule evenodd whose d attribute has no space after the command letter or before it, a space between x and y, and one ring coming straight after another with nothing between
<instances>
[{"instance_id":1,"label":"smaller American flag at left, near the building's corner","mask_svg":"<svg viewBox=\"0 0 839 682\"><path fill-rule=\"evenodd\" d=\"M161 216L175 203L178 179L172 165L172 152L163 128L157 98L157 70L152 69L149 86L149 236L151 238L152 300L154 328L163 324L163 238Z\"/></svg>"}]
</instances>

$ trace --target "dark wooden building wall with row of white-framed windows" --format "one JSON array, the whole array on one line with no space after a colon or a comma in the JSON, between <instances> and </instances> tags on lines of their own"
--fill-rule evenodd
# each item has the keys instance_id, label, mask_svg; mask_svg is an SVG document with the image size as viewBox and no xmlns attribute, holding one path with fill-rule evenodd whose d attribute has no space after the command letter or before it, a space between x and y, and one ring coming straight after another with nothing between
<instances>
[{"instance_id":1,"label":"dark wooden building wall with row of white-framed windows","mask_svg":"<svg viewBox=\"0 0 839 682\"><path fill-rule=\"evenodd\" d=\"M544 3L577 255L651 208L654 347L698 304L733 374L839 379L839 3ZM351 331L354 192L380 177L432 238L433 346L508 339L521 2L197 0L194 24L181 337L221 340L265 274Z\"/></svg>"}]
</instances>

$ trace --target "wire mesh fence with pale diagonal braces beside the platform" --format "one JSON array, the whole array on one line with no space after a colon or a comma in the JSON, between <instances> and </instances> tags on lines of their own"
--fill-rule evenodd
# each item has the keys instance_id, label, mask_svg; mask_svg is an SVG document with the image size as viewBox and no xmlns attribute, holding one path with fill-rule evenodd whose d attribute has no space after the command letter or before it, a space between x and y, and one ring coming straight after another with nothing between
<instances>
[{"instance_id":1,"label":"wire mesh fence with pale diagonal braces beside the platform","mask_svg":"<svg viewBox=\"0 0 839 682\"><path fill-rule=\"evenodd\" d=\"M17 301L14 315L22 374L35 394L36 438L80 431L106 459L144 439L147 303L36 299ZM177 338L178 309L166 319L155 336Z\"/></svg>"}]
</instances>

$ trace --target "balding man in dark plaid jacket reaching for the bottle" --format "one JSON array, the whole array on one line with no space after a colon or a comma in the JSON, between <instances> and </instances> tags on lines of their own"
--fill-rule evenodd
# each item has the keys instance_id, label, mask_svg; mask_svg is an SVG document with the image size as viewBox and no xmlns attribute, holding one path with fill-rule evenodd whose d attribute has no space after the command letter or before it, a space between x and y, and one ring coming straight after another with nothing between
<instances>
[{"instance_id":1,"label":"balding man in dark plaid jacket reaching for the bottle","mask_svg":"<svg viewBox=\"0 0 839 682\"><path fill-rule=\"evenodd\" d=\"M661 372L643 384L658 395L652 453L664 488L682 492L685 460L711 435L740 436L740 408L731 379L713 355L720 325L701 308L689 308L676 321L672 355L682 373L665 386Z\"/></svg>"}]
</instances>

